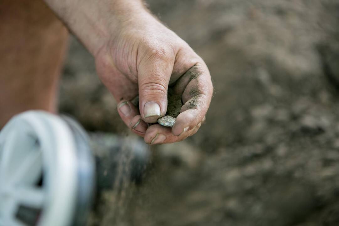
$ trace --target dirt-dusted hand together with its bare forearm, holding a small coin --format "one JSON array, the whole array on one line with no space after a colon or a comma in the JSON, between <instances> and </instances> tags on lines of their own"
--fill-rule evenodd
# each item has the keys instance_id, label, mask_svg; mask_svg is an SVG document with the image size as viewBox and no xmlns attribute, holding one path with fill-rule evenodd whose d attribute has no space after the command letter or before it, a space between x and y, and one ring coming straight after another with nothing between
<instances>
[{"instance_id":1,"label":"dirt-dusted hand together with its bare forearm, holding a small coin","mask_svg":"<svg viewBox=\"0 0 339 226\"><path fill-rule=\"evenodd\" d=\"M62 8L56 0L46 1L57 13ZM203 60L141 1L93 2L81 1L89 14L59 15L95 56L98 75L119 102L124 123L149 144L178 142L196 133L213 93ZM152 125L166 113L168 86L183 103L172 128ZM130 102L137 95L139 108Z\"/></svg>"}]
</instances>

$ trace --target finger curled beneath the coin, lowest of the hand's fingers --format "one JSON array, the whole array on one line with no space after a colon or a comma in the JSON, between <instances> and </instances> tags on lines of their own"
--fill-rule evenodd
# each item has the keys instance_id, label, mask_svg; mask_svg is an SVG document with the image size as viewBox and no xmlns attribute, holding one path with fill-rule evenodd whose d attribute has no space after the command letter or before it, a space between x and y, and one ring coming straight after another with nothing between
<instances>
[{"instance_id":1,"label":"finger curled beneath the coin, lowest of the hand's fingers","mask_svg":"<svg viewBox=\"0 0 339 226\"><path fill-rule=\"evenodd\" d=\"M159 124L154 124L148 127L146 134L144 136L144 140L147 144L151 145L179 142L185 139L186 137L195 134L199 130L200 126L201 123L195 126L192 130L185 131L179 136L174 136L171 132L171 128L163 127Z\"/></svg>"}]
</instances>

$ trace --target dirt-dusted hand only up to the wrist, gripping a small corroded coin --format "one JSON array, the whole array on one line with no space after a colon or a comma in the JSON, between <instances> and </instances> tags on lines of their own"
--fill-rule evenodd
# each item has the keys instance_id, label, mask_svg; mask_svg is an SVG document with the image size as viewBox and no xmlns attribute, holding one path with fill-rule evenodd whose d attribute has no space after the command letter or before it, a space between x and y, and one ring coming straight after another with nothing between
<instances>
[{"instance_id":1,"label":"dirt-dusted hand only up to the wrist, gripping a small corroded coin","mask_svg":"<svg viewBox=\"0 0 339 226\"><path fill-rule=\"evenodd\" d=\"M96 58L99 77L120 100L118 111L146 143L180 141L197 132L212 97L212 82L203 60L153 16L140 15L121 26ZM167 109L168 85L184 103L173 128L156 123ZM139 109L129 101L139 95Z\"/></svg>"}]
</instances>

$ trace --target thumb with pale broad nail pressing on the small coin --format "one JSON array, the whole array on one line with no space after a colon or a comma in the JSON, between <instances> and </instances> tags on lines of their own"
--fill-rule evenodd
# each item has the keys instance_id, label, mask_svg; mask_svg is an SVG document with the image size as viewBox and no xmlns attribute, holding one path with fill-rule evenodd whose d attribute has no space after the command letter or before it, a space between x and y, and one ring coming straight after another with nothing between
<instances>
[{"instance_id":1,"label":"thumb with pale broad nail pressing on the small coin","mask_svg":"<svg viewBox=\"0 0 339 226\"><path fill-rule=\"evenodd\" d=\"M163 52L155 52L139 64L139 109L146 123L156 123L167 111L167 88L173 65Z\"/></svg>"}]
</instances>

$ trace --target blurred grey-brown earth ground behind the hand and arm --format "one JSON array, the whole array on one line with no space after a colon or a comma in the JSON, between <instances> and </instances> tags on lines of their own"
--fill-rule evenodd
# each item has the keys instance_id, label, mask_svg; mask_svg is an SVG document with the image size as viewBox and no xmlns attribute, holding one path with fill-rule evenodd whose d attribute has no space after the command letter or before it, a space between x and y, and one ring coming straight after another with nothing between
<instances>
[{"instance_id":1,"label":"blurred grey-brown earth ground behind the hand and arm","mask_svg":"<svg viewBox=\"0 0 339 226\"><path fill-rule=\"evenodd\" d=\"M90 225L339 225L339 1L147 3L215 94L198 133L154 147L143 183L106 191ZM93 139L133 137L74 38L59 101Z\"/></svg>"}]
</instances>

